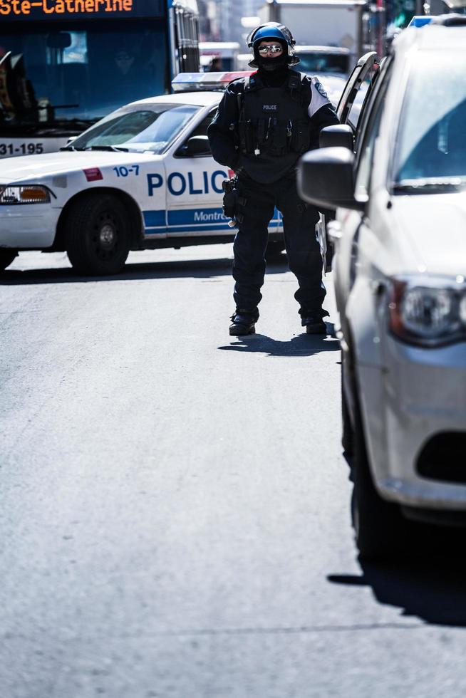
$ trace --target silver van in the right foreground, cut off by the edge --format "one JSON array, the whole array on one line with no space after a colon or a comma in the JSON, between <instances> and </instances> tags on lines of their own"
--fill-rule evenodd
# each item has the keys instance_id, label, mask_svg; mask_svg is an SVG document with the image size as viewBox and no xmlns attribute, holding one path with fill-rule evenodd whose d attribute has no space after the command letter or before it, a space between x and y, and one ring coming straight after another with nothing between
<instances>
[{"instance_id":1,"label":"silver van in the right foreground, cut off by the edge","mask_svg":"<svg viewBox=\"0 0 466 698\"><path fill-rule=\"evenodd\" d=\"M371 62L299 182L337 209L353 526L361 557L383 558L419 541L419 522L466 525L466 17L403 31L353 128Z\"/></svg>"}]
</instances>

